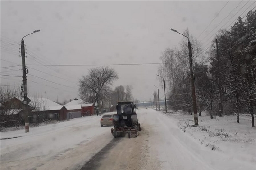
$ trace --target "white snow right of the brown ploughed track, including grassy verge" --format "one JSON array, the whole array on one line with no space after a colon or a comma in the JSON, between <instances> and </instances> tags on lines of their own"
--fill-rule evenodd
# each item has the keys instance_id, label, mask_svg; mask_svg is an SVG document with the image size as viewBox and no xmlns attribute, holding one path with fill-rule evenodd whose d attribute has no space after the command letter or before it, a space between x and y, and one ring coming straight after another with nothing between
<instances>
[{"instance_id":1,"label":"white snow right of the brown ploughed track, including grassy verge","mask_svg":"<svg viewBox=\"0 0 256 170\"><path fill-rule=\"evenodd\" d=\"M142 127L148 124L151 133L151 154L163 170L256 170L256 128L250 120L241 118L238 124L235 116L203 116L199 127L192 127L191 115L155 110L143 118Z\"/></svg>"}]
</instances>

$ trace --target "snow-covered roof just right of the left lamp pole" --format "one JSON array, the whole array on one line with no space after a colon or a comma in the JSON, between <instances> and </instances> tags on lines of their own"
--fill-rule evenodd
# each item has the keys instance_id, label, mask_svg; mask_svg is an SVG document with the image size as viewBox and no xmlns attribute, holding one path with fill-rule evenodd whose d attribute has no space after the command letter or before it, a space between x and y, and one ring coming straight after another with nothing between
<instances>
[{"instance_id":1,"label":"snow-covered roof just right of the left lamp pole","mask_svg":"<svg viewBox=\"0 0 256 170\"><path fill-rule=\"evenodd\" d=\"M28 97L29 99L31 99L31 102L29 103L29 105L33 108L35 108L35 110L33 110L33 112L35 111L48 111L48 110L60 110L63 106L51 101L50 99L46 99L46 98L35 98L35 97Z\"/></svg>"}]
</instances>

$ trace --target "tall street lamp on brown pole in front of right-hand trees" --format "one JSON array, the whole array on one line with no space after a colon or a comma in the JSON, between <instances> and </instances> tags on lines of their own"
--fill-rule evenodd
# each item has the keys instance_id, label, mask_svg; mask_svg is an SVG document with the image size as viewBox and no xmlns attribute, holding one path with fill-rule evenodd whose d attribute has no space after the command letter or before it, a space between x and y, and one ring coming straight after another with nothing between
<instances>
[{"instance_id":1,"label":"tall street lamp on brown pole in front of right-hand trees","mask_svg":"<svg viewBox=\"0 0 256 170\"><path fill-rule=\"evenodd\" d=\"M174 30L171 28L171 31L174 31L178 34L179 33L177 30ZM181 34L183 35L183 34ZM185 35L183 35L188 39L188 49L189 49L189 66L190 66L190 79L191 79L191 91L192 91L192 99L193 99L193 110L194 110L194 120L195 120L195 125L198 125L198 118L197 118L197 108L196 108L196 95L195 95L195 82L194 82L194 73L193 73L193 67L192 67L192 52L191 52L191 43L189 41L189 38Z\"/></svg>"}]
</instances>

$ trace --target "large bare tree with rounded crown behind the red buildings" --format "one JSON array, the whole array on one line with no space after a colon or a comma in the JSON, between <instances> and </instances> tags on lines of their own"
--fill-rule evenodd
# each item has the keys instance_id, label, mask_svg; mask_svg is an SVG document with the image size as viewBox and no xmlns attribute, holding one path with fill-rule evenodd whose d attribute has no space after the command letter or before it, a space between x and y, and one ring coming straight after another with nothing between
<instances>
[{"instance_id":1,"label":"large bare tree with rounded crown behind the red buildings","mask_svg":"<svg viewBox=\"0 0 256 170\"><path fill-rule=\"evenodd\" d=\"M108 98L110 92L109 85L118 79L118 74L113 68L108 66L91 68L87 76L82 76L79 80L80 96L87 102L97 102L101 109L101 100Z\"/></svg>"}]
</instances>

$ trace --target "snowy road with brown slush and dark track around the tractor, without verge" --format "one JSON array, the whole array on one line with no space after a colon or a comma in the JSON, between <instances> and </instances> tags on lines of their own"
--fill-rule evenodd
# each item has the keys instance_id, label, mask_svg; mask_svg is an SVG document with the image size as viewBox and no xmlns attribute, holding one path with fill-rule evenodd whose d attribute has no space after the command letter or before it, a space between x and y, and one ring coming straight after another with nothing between
<instances>
[{"instance_id":1,"label":"snowy road with brown slush and dark track around the tractor, without verge","mask_svg":"<svg viewBox=\"0 0 256 170\"><path fill-rule=\"evenodd\" d=\"M137 138L114 139L100 117L84 117L31 129L1 140L3 170L255 170L240 160L201 145L178 120L151 109L138 111ZM21 133L22 132L22 133ZM23 131L1 133L1 138Z\"/></svg>"}]
</instances>

